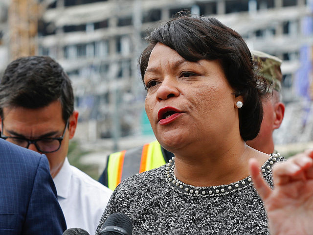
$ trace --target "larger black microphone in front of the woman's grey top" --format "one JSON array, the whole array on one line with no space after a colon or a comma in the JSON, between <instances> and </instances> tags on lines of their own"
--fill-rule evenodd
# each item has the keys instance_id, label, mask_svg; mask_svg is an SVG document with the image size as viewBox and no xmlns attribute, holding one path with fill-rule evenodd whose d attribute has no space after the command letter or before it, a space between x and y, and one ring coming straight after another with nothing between
<instances>
[{"instance_id":1,"label":"larger black microphone in front of the woman's grey top","mask_svg":"<svg viewBox=\"0 0 313 235\"><path fill-rule=\"evenodd\" d=\"M113 213L104 222L99 235L132 235L132 233L132 220L126 214Z\"/></svg>"}]
</instances>

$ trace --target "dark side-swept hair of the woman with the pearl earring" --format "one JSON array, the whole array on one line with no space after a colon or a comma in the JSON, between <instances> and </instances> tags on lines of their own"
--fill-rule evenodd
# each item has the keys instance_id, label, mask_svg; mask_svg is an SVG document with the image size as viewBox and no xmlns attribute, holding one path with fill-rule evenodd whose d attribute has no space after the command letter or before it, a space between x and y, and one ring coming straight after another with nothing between
<instances>
[{"instance_id":1,"label":"dark side-swept hair of the woman with the pearl earring","mask_svg":"<svg viewBox=\"0 0 313 235\"><path fill-rule=\"evenodd\" d=\"M176 50L188 61L219 59L234 95L242 95L244 99L239 109L241 137L248 141L258 135L263 119L261 98L266 94L267 84L257 75L258 68L250 50L236 31L213 17L179 16L156 28L145 39L150 44L139 58L142 81L152 49L158 42Z\"/></svg>"}]
</instances>

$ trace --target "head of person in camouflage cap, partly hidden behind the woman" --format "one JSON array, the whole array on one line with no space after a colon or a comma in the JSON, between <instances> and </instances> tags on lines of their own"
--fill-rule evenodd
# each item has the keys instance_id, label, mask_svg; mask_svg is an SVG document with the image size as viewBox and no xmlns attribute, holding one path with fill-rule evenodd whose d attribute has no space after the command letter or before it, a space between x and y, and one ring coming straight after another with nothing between
<instances>
[{"instance_id":1,"label":"head of person in camouflage cap, partly hidden behind the woman","mask_svg":"<svg viewBox=\"0 0 313 235\"><path fill-rule=\"evenodd\" d=\"M269 83L268 95L264 98L263 120L259 135L246 144L264 153L274 152L273 131L278 129L283 121L285 105L281 101L282 61L261 51L251 51L253 60L260 66L260 75Z\"/></svg>"}]
</instances>

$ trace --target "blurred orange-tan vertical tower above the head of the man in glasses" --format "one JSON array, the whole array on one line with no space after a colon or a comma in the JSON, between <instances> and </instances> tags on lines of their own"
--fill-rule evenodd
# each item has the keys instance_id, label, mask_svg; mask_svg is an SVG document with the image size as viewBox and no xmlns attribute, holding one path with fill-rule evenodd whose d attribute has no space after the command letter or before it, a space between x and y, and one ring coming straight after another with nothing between
<instances>
[{"instance_id":1,"label":"blurred orange-tan vertical tower above the head of the man in glasses","mask_svg":"<svg viewBox=\"0 0 313 235\"><path fill-rule=\"evenodd\" d=\"M11 0L8 9L10 59L37 53L38 0Z\"/></svg>"}]
</instances>

